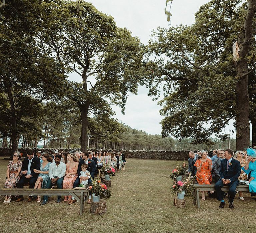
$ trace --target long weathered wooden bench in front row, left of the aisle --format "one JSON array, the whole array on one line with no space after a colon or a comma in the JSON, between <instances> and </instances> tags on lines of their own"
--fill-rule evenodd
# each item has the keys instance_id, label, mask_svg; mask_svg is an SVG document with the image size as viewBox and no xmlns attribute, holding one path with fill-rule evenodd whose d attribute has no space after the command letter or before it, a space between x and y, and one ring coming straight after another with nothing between
<instances>
[{"instance_id":1,"label":"long weathered wooden bench in front row, left of the aisle","mask_svg":"<svg viewBox=\"0 0 256 233\"><path fill-rule=\"evenodd\" d=\"M6 195L33 195L33 196L69 196L72 195L78 203L80 203L80 215L84 211L84 198L89 195L88 190L80 189L59 189L59 188L49 188L49 189L30 189L30 188L2 188L0 189L0 197Z\"/></svg>"}]
</instances>

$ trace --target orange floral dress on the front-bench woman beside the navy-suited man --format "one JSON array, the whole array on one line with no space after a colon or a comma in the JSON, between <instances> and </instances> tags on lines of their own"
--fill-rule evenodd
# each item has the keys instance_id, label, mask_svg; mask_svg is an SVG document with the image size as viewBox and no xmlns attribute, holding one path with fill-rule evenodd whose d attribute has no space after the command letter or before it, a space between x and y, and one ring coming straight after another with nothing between
<instances>
[{"instance_id":1,"label":"orange floral dress on the front-bench woman beside the navy-suited man","mask_svg":"<svg viewBox=\"0 0 256 233\"><path fill-rule=\"evenodd\" d=\"M199 167L201 164L201 160L198 159L195 162L196 167ZM211 184L212 182L212 174L209 170L209 165L212 165L212 160L207 158L205 162L203 162L201 170L196 173L196 180L198 184Z\"/></svg>"}]
</instances>

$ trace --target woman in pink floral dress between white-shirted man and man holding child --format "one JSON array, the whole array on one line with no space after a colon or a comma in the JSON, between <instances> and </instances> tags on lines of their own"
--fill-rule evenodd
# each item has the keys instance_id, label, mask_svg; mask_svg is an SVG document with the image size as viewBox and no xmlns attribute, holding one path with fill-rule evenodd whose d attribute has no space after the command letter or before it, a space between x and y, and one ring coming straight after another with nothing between
<instances>
[{"instance_id":1,"label":"woman in pink floral dress between white-shirted man and man holding child","mask_svg":"<svg viewBox=\"0 0 256 233\"><path fill-rule=\"evenodd\" d=\"M68 155L68 163L67 168L66 168L66 175L64 177L63 183L62 183L62 188L64 189L72 189L73 184L77 178L77 168L78 168L78 163L79 160L76 157L75 154L71 153ZM67 196L65 196L64 201L71 201L71 195L69 196L67 200Z\"/></svg>"}]
</instances>

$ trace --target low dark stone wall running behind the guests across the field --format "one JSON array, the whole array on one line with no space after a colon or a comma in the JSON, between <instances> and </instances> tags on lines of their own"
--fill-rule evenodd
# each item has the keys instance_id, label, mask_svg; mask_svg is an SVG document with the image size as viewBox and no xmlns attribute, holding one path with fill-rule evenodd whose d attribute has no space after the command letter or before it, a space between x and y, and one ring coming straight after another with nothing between
<instances>
[{"instance_id":1,"label":"low dark stone wall running behind the guests across the field","mask_svg":"<svg viewBox=\"0 0 256 233\"><path fill-rule=\"evenodd\" d=\"M26 156L26 150L28 148L19 148L18 151ZM38 150L50 151L51 149L38 149L32 148L34 153ZM62 150L62 149L58 149ZM68 149L63 149L68 150ZM69 150L72 150L71 148ZM188 159L188 152L189 151L156 151L156 150L127 150L123 151L125 154L125 158L143 158L143 159L169 159L169 160L177 160L182 161L184 158L185 160ZM0 156L10 157L11 156L11 149L8 147L0 147Z\"/></svg>"}]
</instances>

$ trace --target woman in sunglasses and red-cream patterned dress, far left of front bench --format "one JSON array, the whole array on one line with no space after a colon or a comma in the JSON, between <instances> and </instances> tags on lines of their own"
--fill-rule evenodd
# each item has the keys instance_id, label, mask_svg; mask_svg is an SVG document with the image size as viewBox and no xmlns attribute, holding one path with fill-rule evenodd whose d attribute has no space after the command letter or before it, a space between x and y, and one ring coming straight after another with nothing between
<instances>
[{"instance_id":1,"label":"woman in sunglasses and red-cream patterned dress, far left of front bench","mask_svg":"<svg viewBox=\"0 0 256 233\"><path fill-rule=\"evenodd\" d=\"M16 183L19 182L21 178L21 167L22 161L20 161L21 154L19 151L14 152L12 160L9 161L7 165L7 177L4 183L4 188L16 188ZM4 204L9 204L11 201L11 196L5 196Z\"/></svg>"}]
</instances>

